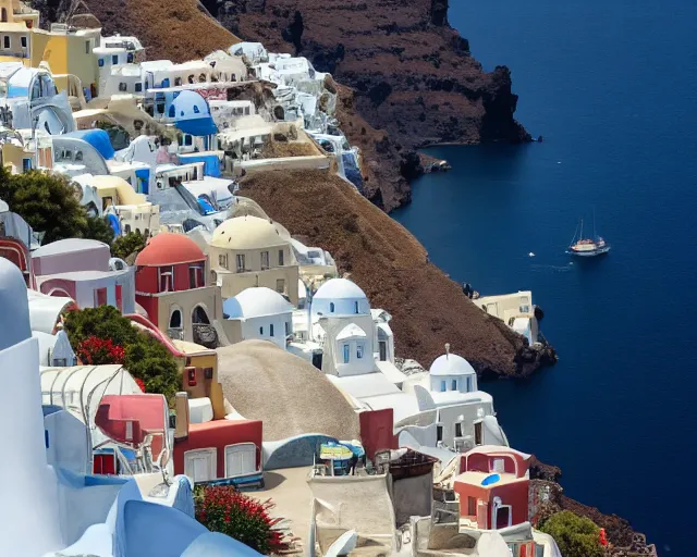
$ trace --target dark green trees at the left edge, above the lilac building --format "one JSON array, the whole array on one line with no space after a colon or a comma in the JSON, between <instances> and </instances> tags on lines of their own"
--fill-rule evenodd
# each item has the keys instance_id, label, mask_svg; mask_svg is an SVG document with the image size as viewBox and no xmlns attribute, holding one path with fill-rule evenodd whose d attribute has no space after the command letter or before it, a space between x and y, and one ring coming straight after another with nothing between
<instances>
[{"instance_id":1,"label":"dark green trees at the left edge, above the lilac building","mask_svg":"<svg viewBox=\"0 0 697 557\"><path fill-rule=\"evenodd\" d=\"M89 216L75 197L70 181L57 174L29 171L10 174L0 168L0 199L22 216L42 244L65 238L90 238L110 244L113 231L106 220Z\"/></svg>"}]
</instances>

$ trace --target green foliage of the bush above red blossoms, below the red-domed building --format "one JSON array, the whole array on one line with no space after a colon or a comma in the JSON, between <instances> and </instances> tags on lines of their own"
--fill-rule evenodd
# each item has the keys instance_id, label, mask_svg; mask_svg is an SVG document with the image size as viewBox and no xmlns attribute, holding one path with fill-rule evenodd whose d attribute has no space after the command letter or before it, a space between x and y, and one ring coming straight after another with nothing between
<instances>
[{"instance_id":1,"label":"green foliage of the bush above red blossoms, below the red-domed building","mask_svg":"<svg viewBox=\"0 0 697 557\"><path fill-rule=\"evenodd\" d=\"M182 381L176 360L158 339L135 329L117 308L100 306L71 311L64 329L76 352L89 337L110 339L123 347L125 356L120 363L143 381L146 393L159 393L173 404Z\"/></svg>"}]
</instances>

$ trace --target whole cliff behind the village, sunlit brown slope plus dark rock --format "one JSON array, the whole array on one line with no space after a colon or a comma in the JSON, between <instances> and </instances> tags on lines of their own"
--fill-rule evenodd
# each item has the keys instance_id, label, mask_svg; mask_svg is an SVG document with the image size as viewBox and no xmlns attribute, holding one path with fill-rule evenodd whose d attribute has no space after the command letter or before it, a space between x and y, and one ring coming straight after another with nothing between
<instances>
[{"instance_id":1,"label":"whole cliff behind the village, sunlit brown slope plus dark rock","mask_svg":"<svg viewBox=\"0 0 697 557\"><path fill-rule=\"evenodd\" d=\"M61 21L66 0L35 0ZM85 0L105 34L133 34L150 60L182 62L244 40L298 53L339 86L342 129L362 148L366 196L390 211L411 200L432 143L525 141L505 66L487 73L448 24L447 0ZM216 24L208 14L220 21ZM157 25L152 25L157 22ZM224 28L223 28L224 27ZM230 30L225 30L230 29Z\"/></svg>"}]
</instances>

